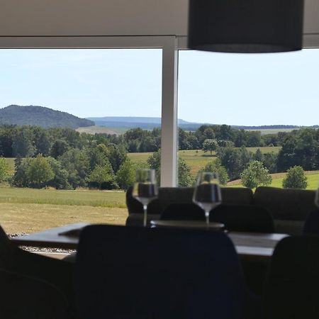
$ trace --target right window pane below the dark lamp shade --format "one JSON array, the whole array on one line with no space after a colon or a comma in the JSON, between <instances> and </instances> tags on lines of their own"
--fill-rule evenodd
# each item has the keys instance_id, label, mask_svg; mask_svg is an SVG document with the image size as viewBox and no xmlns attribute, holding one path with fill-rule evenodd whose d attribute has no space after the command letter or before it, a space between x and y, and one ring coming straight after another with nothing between
<instances>
[{"instance_id":1,"label":"right window pane below the dark lamp shade","mask_svg":"<svg viewBox=\"0 0 319 319\"><path fill-rule=\"evenodd\" d=\"M263 167L272 178L259 185L281 187L287 170L300 166L307 187L316 189L318 72L318 49L259 55L179 51L179 157L191 178L199 169L213 169L225 186L254 188L243 172Z\"/></svg>"}]
</instances>

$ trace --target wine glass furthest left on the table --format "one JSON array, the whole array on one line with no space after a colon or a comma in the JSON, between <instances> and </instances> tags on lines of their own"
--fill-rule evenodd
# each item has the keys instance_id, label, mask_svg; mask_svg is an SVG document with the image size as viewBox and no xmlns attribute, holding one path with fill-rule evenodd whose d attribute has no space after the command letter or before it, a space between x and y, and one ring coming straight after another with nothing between
<instances>
[{"instance_id":1,"label":"wine glass furthest left on the table","mask_svg":"<svg viewBox=\"0 0 319 319\"><path fill-rule=\"evenodd\" d=\"M147 225L147 205L158 196L155 169L137 169L133 186L133 197L142 203L144 211L143 225Z\"/></svg>"}]
</instances>

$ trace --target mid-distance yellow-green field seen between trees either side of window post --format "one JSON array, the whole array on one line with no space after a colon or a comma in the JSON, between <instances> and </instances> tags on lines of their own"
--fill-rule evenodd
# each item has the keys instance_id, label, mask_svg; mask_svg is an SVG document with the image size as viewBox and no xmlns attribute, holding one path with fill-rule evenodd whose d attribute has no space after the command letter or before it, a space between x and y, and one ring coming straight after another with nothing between
<instances>
[{"instance_id":1,"label":"mid-distance yellow-green field seen between trees either side of window post","mask_svg":"<svg viewBox=\"0 0 319 319\"><path fill-rule=\"evenodd\" d=\"M256 152L260 149L262 153L274 152L277 154L281 147L247 147L250 152ZM213 152L211 156L209 152L203 152L202 150L180 150L179 157L185 159L186 163L191 167L191 174L196 176L197 172L202 169L209 161L216 159L216 153ZM133 162L146 162L147 158L152 155L151 152L147 153L128 153L128 157L133 160Z\"/></svg>"}]
</instances>

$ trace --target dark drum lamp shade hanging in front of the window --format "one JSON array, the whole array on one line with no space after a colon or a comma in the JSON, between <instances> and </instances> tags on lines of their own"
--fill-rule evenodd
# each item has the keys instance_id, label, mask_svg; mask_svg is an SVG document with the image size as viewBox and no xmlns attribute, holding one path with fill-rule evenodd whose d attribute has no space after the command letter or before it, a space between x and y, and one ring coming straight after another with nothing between
<instances>
[{"instance_id":1,"label":"dark drum lamp shade hanging in front of the window","mask_svg":"<svg viewBox=\"0 0 319 319\"><path fill-rule=\"evenodd\" d=\"M190 0L189 48L286 52L302 48L303 0Z\"/></svg>"}]
</instances>

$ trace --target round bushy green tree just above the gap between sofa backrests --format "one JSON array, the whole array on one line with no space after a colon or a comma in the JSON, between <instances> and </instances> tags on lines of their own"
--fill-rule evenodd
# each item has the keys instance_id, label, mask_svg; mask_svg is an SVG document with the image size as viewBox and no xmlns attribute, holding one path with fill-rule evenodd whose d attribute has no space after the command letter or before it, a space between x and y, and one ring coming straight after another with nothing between
<instances>
[{"instance_id":1,"label":"round bushy green tree just above the gap between sofa backrests","mask_svg":"<svg viewBox=\"0 0 319 319\"><path fill-rule=\"evenodd\" d=\"M242 184L249 189L272 184L272 177L268 169L264 168L262 162L258 161L250 162L247 169L240 174L240 178Z\"/></svg>"}]
</instances>

